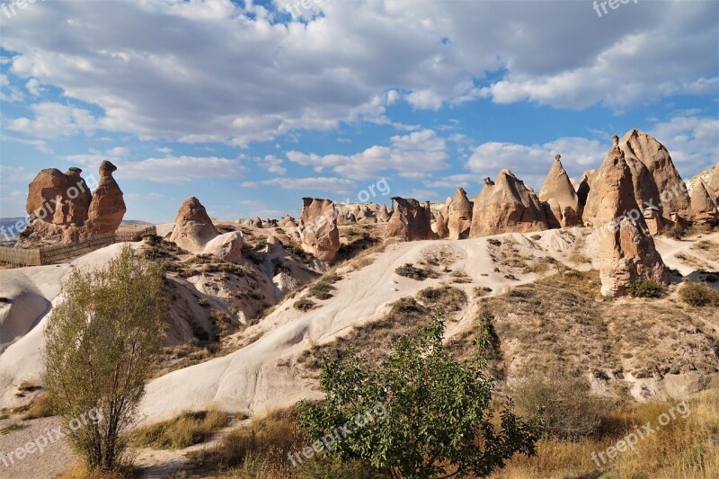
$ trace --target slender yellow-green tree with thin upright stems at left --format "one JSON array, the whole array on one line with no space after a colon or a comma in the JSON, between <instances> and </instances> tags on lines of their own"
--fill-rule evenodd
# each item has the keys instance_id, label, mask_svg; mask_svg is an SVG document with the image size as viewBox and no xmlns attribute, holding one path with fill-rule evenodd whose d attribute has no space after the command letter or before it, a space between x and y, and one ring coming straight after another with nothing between
<instances>
[{"instance_id":1,"label":"slender yellow-green tree with thin upright stems at left","mask_svg":"<svg viewBox=\"0 0 719 479\"><path fill-rule=\"evenodd\" d=\"M74 271L45 329L44 379L91 470L119 466L162 345L163 267L129 245L103 270ZM66 422L66 423L68 423Z\"/></svg>"}]
</instances>

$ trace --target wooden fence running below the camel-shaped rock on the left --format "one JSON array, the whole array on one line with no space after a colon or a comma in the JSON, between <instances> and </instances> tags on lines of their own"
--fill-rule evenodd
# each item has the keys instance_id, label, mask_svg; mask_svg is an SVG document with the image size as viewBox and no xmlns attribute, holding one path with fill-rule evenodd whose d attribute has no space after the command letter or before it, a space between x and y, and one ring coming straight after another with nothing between
<instances>
[{"instance_id":1,"label":"wooden fence running below the camel-shaped rock on the left","mask_svg":"<svg viewBox=\"0 0 719 479\"><path fill-rule=\"evenodd\" d=\"M156 235L155 226L120 226L110 235L94 236L71 244L52 244L40 248L8 248L0 246L0 262L11 266L40 266L52 264L81 254L90 253L114 243L139 241L144 235Z\"/></svg>"}]
</instances>

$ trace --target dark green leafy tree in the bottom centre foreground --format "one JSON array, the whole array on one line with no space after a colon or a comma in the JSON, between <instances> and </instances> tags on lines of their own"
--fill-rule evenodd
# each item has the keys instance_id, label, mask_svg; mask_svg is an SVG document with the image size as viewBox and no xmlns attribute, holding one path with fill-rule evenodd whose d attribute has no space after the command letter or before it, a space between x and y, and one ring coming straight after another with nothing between
<instances>
[{"instance_id":1,"label":"dark green leafy tree in the bottom centre foreground","mask_svg":"<svg viewBox=\"0 0 719 479\"><path fill-rule=\"evenodd\" d=\"M300 404L300 424L310 438L328 438L350 425L351 433L329 454L361 459L397 478L484 477L515 453L535 454L541 423L521 421L508 400L493 421L493 381L485 377L485 324L477 328L477 350L460 362L443 345L444 322L395 342L381 367L351 355L323 359L320 404ZM361 426L355 421L381 404L386 417Z\"/></svg>"}]
</instances>

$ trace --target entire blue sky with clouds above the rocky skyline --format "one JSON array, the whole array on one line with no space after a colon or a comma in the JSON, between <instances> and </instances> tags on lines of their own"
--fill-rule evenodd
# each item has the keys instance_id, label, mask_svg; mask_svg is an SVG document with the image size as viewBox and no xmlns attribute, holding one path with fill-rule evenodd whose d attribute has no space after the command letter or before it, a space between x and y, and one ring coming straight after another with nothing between
<instances>
[{"instance_id":1,"label":"entire blue sky with clouds above the rocky skyline","mask_svg":"<svg viewBox=\"0 0 719 479\"><path fill-rule=\"evenodd\" d=\"M719 3L0 0L0 217L42 168L119 167L126 219L444 200L574 178L642 129L719 161ZM295 6L293 6L295 5ZM12 8L11 8L12 6ZM366 198L366 197L365 197Z\"/></svg>"}]
</instances>

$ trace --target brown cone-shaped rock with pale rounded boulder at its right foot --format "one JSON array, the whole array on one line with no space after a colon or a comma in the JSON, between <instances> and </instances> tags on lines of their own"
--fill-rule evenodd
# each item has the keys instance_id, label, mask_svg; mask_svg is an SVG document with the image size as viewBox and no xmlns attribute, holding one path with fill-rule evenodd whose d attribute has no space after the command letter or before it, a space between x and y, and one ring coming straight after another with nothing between
<instances>
[{"instance_id":1,"label":"brown cone-shaped rock with pale rounded boulder at its right foot","mask_svg":"<svg viewBox=\"0 0 719 479\"><path fill-rule=\"evenodd\" d=\"M170 241L195 254L212 254L225 262L242 259L242 234L219 235L207 210L194 196L184 200L174 221Z\"/></svg>"}]
</instances>

